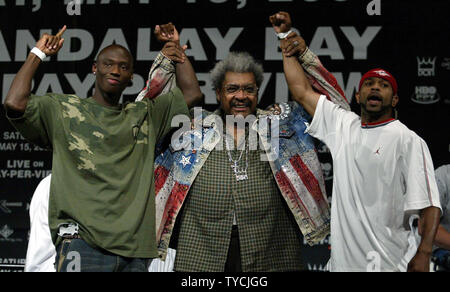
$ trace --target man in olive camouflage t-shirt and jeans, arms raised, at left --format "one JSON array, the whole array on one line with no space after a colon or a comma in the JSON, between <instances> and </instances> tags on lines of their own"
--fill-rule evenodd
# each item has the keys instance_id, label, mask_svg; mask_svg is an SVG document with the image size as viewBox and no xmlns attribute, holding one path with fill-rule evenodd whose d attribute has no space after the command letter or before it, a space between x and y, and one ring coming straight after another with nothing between
<instances>
[{"instance_id":1,"label":"man in olive camouflage t-shirt and jeans, arms raised, at left","mask_svg":"<svg viewBox=\"0 0 450 292\"><path fill-rule=\"evenodd\" d=\"M175 88L119 105L133 77L133 58L112 45L92 67L93 97L30 95L35 72L43 57L60 50L64 31L38 41L5 100L22 135L53 151L49 225L57 270L146 271L147 259L157 257L155 143L171 130L174 116L188 114L183 93Z\"/></svg>"}]
</instances>

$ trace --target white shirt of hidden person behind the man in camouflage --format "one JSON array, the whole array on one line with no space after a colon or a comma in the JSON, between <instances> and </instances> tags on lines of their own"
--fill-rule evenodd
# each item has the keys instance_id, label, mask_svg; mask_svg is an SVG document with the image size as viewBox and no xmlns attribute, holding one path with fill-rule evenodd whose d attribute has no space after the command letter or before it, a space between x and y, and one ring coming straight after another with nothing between
<instances>
[{"instance_id":1,"label":"white shirt of hidden person behind the man in camouflage","mask_svg":"<svg viewBox=\"0 0 450 292\"><path fill-rule=\"evenodd\" d=\"M56 272L56 249L48 226L51 175L36 188L30 204L30 240L28 242L25 272ZM176 251L168 250L166 261L154 259L149 272L173 272Z\"/></svg>"}]
</instances>

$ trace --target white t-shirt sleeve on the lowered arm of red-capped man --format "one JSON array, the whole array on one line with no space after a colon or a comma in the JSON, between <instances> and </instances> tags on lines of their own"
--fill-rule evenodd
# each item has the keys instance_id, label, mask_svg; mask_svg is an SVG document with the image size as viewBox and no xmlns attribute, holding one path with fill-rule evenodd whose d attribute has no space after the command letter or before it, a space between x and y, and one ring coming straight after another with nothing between
<instances>
[{"instance_id":1,"label":"white t-shirt sleeve on the lowered arm of red-capped man","mask_svg":"<svg viewBox=\"0 0 450 292\"><path fill-rule=\"evenodd\" d=\"M408 136L404 145L403 177L406 184L405 211L441 208L433 160L425 141L417 135Z\"/></svg>"}]
</instances>

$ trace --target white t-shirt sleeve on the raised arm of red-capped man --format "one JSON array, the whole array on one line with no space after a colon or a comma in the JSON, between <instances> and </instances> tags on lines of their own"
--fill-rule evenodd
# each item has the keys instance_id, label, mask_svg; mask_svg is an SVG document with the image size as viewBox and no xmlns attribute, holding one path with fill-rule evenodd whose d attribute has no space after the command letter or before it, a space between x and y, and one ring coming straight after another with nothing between
<instances>
[{"instance_id":1,"label":"white t-shirt sleeve on the raised arm of red-capped man","mask_svg":"<svg viewBox=\"0 0 450 292\"><path fill-rule=\"evenodd\" d=\"M324 142L330 148L331 153L336 153L341 138L337 133L343 127L345 118L349 114L351 112L342 109L322 95L307 132Z\"/></svg>"}]
</instances>

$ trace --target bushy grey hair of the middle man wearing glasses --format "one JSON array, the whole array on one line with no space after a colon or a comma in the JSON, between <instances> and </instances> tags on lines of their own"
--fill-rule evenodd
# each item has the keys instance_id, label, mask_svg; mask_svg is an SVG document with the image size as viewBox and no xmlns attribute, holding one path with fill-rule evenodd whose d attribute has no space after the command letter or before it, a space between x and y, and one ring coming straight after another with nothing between
<instances>
[{"instance_id":1,"label":"bushy grey hair of the middle man wearing glasses","mask_svg":"<svg viewBox=\"0 0 450 292\"><path fill-rule=\"evenodd\" d=\"M214 66L210 73L214 90L222 88L227 72L253 73L258 87L261 87L264 81L263 66L247 52L231 52Z\"/></svg>"}]
</instances>

